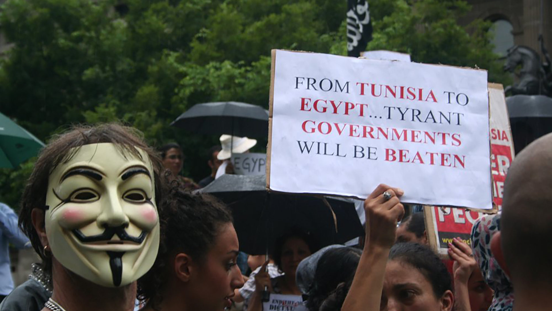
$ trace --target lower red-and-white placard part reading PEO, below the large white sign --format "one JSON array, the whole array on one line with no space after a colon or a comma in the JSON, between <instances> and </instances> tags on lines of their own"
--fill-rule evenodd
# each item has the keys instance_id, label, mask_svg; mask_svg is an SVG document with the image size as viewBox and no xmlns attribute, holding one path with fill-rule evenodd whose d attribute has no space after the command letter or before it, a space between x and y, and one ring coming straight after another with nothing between
<instances>
[{"instance_id":1,"label":"lower red-and-white placard part reading PEO, below the large white sign","mask_svg":"<svg viewBox=\"0 0 552 311\"><path fill-rule=\"evenodd\" d=\"M482 212L463 208L424 206L429 245L443 257L448 256L448 243L455 237L471 245L471 227L482 215Z\"/></svg>"}]
</instances>

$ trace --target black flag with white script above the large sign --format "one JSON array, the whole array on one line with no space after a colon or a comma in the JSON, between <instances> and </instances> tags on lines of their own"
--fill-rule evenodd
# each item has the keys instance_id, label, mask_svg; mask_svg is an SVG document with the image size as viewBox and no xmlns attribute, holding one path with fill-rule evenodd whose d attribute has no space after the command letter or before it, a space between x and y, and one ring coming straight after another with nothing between
<instances>
[{"instance_id":1,"label":"black flag with white script above the large sign","mask_svg":"<svg viewBox=\"0 0 552 311\"><path fill-rule=\"evenodd\" d=\"M358 57L372 39L368 1L347 0L347 54Z\"/></svg>"}]
</instances>

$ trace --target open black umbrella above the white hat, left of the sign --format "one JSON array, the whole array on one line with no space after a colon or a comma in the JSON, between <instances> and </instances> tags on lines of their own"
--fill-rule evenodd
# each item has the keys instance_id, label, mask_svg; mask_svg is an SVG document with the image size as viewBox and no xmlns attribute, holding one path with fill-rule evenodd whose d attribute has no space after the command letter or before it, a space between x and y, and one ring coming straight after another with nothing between
<instances>
[{"instance_id":1,"label":"open black umbrella above the white hat, left of the sign","mask_svg":"<svg viewBox=\"0 0 552 311\"><path fill-rule=\"evenodd\" d=\"M268 111L243 102L198 103L171 125L201 134L267 137Z\"/></svg>"}]
</instances>

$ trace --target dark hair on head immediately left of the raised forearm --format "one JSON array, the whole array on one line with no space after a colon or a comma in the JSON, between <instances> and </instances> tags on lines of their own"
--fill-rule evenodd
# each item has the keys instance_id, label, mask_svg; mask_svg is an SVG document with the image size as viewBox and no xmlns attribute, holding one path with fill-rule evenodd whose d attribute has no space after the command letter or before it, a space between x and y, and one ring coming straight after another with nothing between
<instances>
[{"instance_id":1,"label":"dark hair on head immediately left of the raised forearm","mask_svg":"<svg viewBox=\"0 0 552 311\"><path fill-rule=\"evenodd\" d=\"M320 256L306 302L309 311L318 311L328 294L339 284L353 279L361 253L358 248L338 247Z\"/></svg>"}]
</instances>

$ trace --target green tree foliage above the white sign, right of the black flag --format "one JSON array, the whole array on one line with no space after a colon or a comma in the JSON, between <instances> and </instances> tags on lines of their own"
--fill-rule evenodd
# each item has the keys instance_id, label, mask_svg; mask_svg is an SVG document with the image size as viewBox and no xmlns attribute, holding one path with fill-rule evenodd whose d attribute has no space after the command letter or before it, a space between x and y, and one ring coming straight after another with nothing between
<instances>
[{"instance_id":1,"label":"green tree foliage above the white sign, right of the black flag","mask_svg":"<svg viewBox=\"0 0 552 311\"><path fill-rule=\"evenodd\" d=\"M368 50L400 51L418 63L479 67L489 70L489 81L508 82L489 43L491 23L457 23L457 17L469 12L468 3L371 0L370 9L374 38Z\"/></svg>"}]
</instances>

